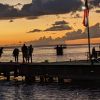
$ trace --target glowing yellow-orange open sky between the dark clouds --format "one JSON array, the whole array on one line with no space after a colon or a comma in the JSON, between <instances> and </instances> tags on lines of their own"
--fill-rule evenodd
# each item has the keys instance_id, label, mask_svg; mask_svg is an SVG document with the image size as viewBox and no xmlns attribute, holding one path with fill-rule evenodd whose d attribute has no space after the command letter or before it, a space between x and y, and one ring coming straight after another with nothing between
<instances>
[{"instance_id":1,"label":"glowing yellow-orange open sky between the dark clouds","mask_svg":"<svg viewBox=\"0 0 100 100\"><path fill-rule=\"evenodd\" d=\"M9 2L8 2L9 1ZM12 0L11 0L12 1ZM8 3L10 5L22 3L28 4L31 3L31 0L1 0L0 3ZM90 27L96 23L100 23L100 14L96 13L96 10L100 8L95 8L90 11ZM76 16L79 15L79 18ZM76 16L76 17L75 17ZM71 30L63 31L44 31L57 21L66 21L68 25L72 28ZM0 20L0 45L2 44L17 44L23 43L26 41L38 40L39 38L46 36L51 36L53 39L57 37L63 37L65 34L71 31L77 31L81 29L83 32L85 27L82 24L83 21L83 11L77 11L71 16L71 13L65 14L53 14L53 15L44 15L37 17L36 19L27 19L27 18L17 18L17 19L1 19ZM41 32L31 32L34 29L40 29ZM73 34L74 35L74 34Z\"/></svg>"}]
</instances>

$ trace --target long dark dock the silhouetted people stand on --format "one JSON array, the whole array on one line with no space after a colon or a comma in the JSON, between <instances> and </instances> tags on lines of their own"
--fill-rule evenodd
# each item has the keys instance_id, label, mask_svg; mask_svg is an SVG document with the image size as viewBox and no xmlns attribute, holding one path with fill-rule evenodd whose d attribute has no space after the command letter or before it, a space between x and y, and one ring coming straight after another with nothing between
<instances>
[{"instance_id":1,"label":"long dark dock the silhouetted people stand on","mask_svg":"<svg viewBox=\"0 0 100 100\"><path fill-rule=\"evenodd\" d=\"M13 74L11 74L12 72ZM52 82L54 77L57 77L59 82L63 82L64 79L100 80L100 63L91 65L88 61L52 63L1 62L0 73L8 81L11 75L15 78L24 76L26 82L34 82L36 76L40 78L40 82Z\"/></svg>"}]
</instances>

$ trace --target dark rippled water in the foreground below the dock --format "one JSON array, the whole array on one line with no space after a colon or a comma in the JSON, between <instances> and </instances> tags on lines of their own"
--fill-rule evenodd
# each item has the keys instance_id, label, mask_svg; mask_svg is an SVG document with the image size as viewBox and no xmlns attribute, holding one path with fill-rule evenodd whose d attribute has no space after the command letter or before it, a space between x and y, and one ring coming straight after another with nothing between
<instances>
[{"instance_id":1,"label":"dark rippled water in the foreground below the dock","mask_svg":"<svg viewBox=\"0 0 100 100\"><path fill-rule=\"evenodd\" d=\"M0 83L0 100L100 100L100 87Z\"/></svg>"}]
</instances>

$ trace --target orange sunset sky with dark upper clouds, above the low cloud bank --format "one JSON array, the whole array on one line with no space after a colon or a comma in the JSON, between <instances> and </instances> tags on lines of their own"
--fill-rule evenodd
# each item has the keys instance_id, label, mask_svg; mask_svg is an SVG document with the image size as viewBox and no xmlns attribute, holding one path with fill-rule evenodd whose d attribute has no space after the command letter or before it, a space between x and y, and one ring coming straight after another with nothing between
<instances>
[{"instance_id":1,"label":"orange sunset sky with dark upper clouds, above the low cloud bank","mask_svg":"<svg viewBox=\"0 0 100 100\"><path fill-rule=\"evenodd\" d=\"M100 23L98 2L93 2L95 8L90 10L90 27ZM80 11L82 3L79 0L33 0L33 5L31 0L0 0L0 3L0 45L34 41L44 36L63 38L71 32L74 36L79 29L83 33L86 29L82 24L83 11Z\"/></svg>"}]
</instances>

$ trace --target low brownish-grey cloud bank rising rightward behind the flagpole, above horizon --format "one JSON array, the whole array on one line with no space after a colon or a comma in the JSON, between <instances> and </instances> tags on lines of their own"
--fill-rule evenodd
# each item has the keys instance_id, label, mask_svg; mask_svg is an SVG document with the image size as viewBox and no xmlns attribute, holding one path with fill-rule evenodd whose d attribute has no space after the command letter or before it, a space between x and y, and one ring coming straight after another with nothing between
<instances>
[{"instance_id":1,"label":"low brownish-grey cloud bank rising rightward behind the flagpole, above horizon","mask_svg":"<svg viewBox=\"0 0 100 100\"><path fill-rule=\"evenodd\" d=\"M85 30L86 31L86 30ZM90 36L91 38L99 38L100 37L100 23L90 27ZM76 39L87 39L87 32L83 32L82 30L77 30L73 32L66 33L63 37L58 37L53 39L50 37L40 37L39 40L29 41L27 43L34 45L56 45L56 44L64 44L66 40L76 40Z\"/></svg>"}]
</instances>

